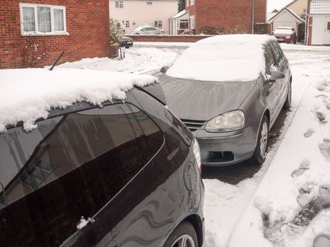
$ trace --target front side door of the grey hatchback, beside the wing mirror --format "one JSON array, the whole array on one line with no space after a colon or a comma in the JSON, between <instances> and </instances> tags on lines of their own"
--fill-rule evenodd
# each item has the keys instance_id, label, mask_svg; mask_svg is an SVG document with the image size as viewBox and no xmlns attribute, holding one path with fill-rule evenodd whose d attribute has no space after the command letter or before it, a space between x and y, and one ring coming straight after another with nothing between
<instances>
[{"instance_id":1,"label":"front side door of the grey hatchback, beside the wing mirror","mask_svg":"<svg viewBox=\"0 0 330 247\"><path fill-rule=\"evenodd\" d=\"M276 62L275 55L269 44L265 47L265 65L266 65L266 82L265 82L265 90L266 90L266 102L269 107L269 111L271 112L271 121L273 119L273 115L276 114L276 102L278 100L278 82L271 81L271 72L278 70L278 64Z\"/></svg>"}]
</instances>

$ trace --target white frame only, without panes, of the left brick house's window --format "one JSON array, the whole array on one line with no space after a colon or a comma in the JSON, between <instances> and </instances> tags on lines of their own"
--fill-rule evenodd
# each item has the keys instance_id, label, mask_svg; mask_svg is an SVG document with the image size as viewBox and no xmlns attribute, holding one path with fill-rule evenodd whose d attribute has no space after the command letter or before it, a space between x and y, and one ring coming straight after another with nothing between
<instances>
[{"instance_id":1,"label":"white frame only, without panes, of the left brick house's window","mask_svg":"<svg viewBox=\"0 0 330 247\"><path fill-rule=\"evenodd\" d=\"M23 23L23 7L34 8L35 13L35 31L25 32ZM50 25L51 32L39 32L37 22L37 7L50 8ZM60 9L63 11L63 31L54 31L54 9ZM49 4L24 4L20 3L20 33L23 36L51 36L51 35L67 35L66 32L66 7L60 5Z\"/></svg>"}]
</instances>

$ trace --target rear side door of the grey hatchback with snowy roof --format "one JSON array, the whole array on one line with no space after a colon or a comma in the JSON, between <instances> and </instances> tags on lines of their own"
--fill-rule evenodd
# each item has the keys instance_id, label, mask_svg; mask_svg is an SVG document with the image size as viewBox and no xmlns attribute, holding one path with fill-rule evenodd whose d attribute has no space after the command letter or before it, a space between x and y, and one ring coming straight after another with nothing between
<instances>
[{"instance_id":1,"label":"rear side door of the grey hatchback with snowy roof","mask_svg":"<svg viewBox=\"0 0 330 247\"><path fill-rule=\"evenodd\" d=\"M281 48L279 47L277 42L271 42L271 48L273 49L274 55L276 56L276 61L278 64L278 71L280 71L281 73L284 74L285 78L283 78L282 80L278 80L278 101L276 102L276 112L280 112L286 95L287 95L287 90L288 90L288 80L289 80L289 76L288 76L288 59L286 59L286 57L284 56Z\"/></svg>"}]
</instances>

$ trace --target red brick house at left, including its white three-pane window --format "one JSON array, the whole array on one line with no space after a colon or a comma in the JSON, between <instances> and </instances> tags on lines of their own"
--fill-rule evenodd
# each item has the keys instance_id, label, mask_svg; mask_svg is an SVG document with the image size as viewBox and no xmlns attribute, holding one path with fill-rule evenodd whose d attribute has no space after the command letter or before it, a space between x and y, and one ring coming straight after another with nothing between
<instances>
[{"instance_id":1,"label":"red brick house at left, including its white three-pane window","mask_svg":"<svg viewBox=\"0 0 330 247\"><path fill-rule=\"evenodd\" d=\"M110 56L108 0L0 0L0 68Z\"/></svg>"}]
</instances>

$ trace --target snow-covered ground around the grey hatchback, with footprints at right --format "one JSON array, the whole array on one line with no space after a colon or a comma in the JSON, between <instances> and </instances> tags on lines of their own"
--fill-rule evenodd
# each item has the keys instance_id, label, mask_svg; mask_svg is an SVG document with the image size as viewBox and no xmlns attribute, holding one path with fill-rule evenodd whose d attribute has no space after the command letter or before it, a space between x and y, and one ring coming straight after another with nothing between
<instances>
[{"instance_id":1,"label":"snow-covered ground around the grey hatchback, with footprints at right","mask_svg":"<svg viewBox=\"0 0 330 247\"><path fill-rule=\"evenodd\" d=\"M58 68L155 73L189 43L136 42L126 59L83 59ZM251 179L204 179L206 247L312 246L330 236L330 47L281 44L293 102L279 140Z\"/></svg>"}]
</instances>

